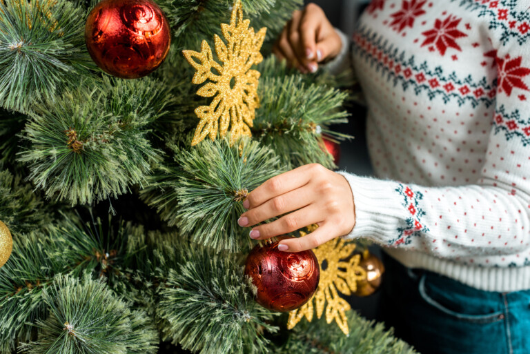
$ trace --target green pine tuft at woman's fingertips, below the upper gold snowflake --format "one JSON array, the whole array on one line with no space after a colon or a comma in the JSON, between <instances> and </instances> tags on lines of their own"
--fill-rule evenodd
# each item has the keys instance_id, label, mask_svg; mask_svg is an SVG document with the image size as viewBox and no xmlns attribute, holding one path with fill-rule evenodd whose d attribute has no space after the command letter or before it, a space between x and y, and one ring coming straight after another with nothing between
<instances>
[{"instance_id":1,"label":"green pine tuft at woman's fingertips, below the upper gold snowflake","mask_svg":"<svg viewBox=\"0 0 530 354\"><path fill-rule=\"evenodd\" d=\"M171 146L175 164L154 175L141 196L170 226L193 242L216 250L250 245L237 225L242 201L267 179L284 171L273 151L257 141L203 141L196 147Z\"/></svg>"}]
</instances>

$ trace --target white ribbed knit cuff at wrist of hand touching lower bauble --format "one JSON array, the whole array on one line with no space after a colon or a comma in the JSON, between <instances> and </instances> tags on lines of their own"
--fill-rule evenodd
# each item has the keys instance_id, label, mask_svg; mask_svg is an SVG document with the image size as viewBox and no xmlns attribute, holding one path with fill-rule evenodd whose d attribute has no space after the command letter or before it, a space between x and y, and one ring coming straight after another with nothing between
<instances>
[{"instance_id":1,"label":"white ribbed knit cuff at wrist of hand touching lower bauble","mask_svg":"<svg viewBox=\"0 0 530 354\"><path fill-rule=\"evenodd\" d=\"M349 182L355 203L355 226L345 238L367 237L388 244L406 217L395 181L339 172Z\"/></svg>"}]
</instances>

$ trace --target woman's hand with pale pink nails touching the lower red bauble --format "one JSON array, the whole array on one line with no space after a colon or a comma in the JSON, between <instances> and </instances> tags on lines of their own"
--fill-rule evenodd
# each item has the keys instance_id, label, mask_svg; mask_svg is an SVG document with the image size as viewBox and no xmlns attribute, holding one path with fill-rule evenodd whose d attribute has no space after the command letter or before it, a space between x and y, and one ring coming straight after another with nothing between
<instances>
[{"instance_id":1,"label":"woman's hand with pale pink nails touching the lower red bauble","mask_svg":"<svg viewBox=\"0 0 530 354\"><path fill-rule=\"evenodd\" d=\"M248 195L243 206L248 211L237 221L239 226L254 226L286 214L253 228L250 232L253 239L284 235L311 224L320 226L305 237L283 240L278 249L289 252L320 246L350 233L355 225L355 206L348 181L319 164L305 165L269 179Z\"/></svg>"}]
</instances>

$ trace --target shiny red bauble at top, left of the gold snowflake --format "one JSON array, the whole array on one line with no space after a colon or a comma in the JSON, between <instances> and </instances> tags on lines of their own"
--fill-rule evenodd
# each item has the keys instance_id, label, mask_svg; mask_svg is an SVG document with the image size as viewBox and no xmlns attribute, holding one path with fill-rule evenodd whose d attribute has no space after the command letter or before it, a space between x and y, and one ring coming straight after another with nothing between
<instances>
[{"instance_id":1,"label":"shiny red bauble at top, left of the gold snowflake","mask_svg":"<svg viewBox=\"0 0 530 354\"><path fill-rule=\"evenodd\" d=\"M150 0L103 0L85 26L86 48L110 75L137 79L166 59L171 42L168 20Z\"/></svg>"}]
</instances>

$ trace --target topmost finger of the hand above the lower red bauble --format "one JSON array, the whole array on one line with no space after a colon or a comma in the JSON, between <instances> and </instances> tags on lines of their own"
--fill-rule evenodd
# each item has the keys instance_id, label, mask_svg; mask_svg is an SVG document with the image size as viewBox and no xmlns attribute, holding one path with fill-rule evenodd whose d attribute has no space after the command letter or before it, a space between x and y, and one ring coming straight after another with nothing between
<instances>
[{"instance_id":1,"label":"topmost finger of the hand above the lower red bauble","mask_svg":"<svg viewBox=\"0 0 530 354\"><path fill-rule=\"evenodd\" d=\"M304 165L268 179L268 181L248 195L246 201L243 202L243 206L247 209L256 208L269 199L305 186L311 179L311 171L316 170L319 166L317 164Z\"/></svg>"}]
</instances>

